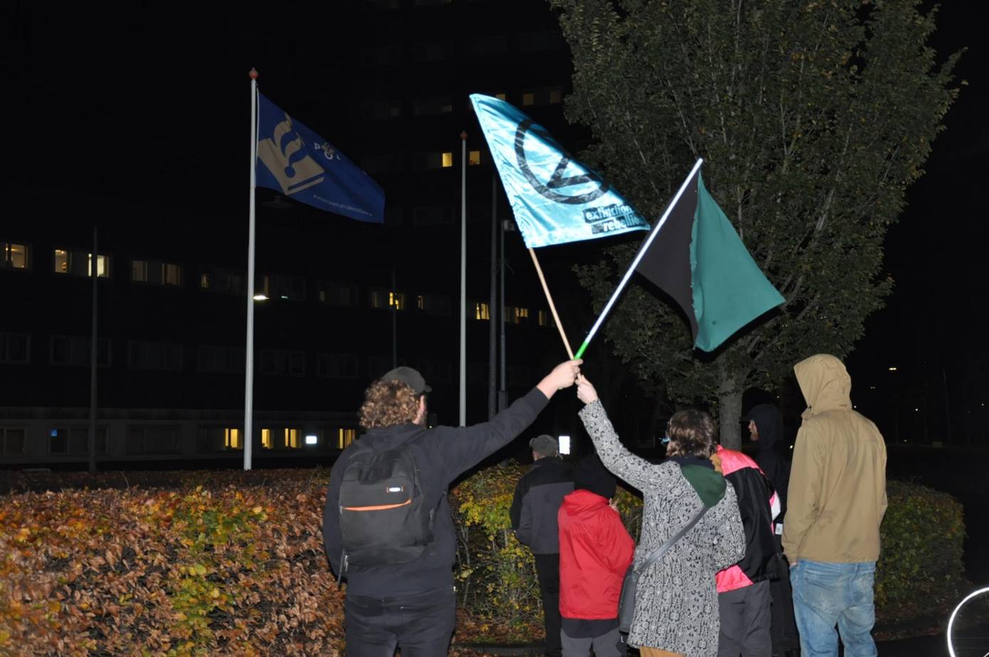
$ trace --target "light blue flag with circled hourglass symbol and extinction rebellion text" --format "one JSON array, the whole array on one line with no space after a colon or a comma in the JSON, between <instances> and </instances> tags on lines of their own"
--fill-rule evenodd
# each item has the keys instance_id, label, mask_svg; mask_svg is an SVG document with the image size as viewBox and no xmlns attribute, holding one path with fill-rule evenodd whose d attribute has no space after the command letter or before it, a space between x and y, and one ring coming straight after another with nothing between
<instances>
[{"instance_id":1,"label":"light blue flag with circled hourglass symbol and extinction rebellion text","mask_svg":"<svg viewBox=\"0 0 989 657\"><path fill-rule=\"evenodd\" d=\"M471 102L526 246L649 230L625 199L545 128L503 100L472 94Z\"/></svg>"}]
</instances>

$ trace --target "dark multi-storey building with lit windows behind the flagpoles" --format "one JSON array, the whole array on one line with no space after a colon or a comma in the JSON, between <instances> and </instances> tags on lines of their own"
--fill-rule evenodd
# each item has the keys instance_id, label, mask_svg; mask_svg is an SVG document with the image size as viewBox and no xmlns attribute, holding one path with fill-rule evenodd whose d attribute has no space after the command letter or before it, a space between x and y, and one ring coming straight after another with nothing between
<instances>
[{"instance_id":1,"label":"dark multi-storey building with lit windows behind the flagpoles","mask_svg":"<svg viewBox=\"0 0 989 657\"><path fill-rule=\"evenodd\" d=\"M267 297L254 302L255 462L332 458L358 433L364 388L395 363L418 368L433 387L432 422L456 423L462 131L468 422L489 413L492 318L504 325L509 399L566 358L517 233L503 236L505 294L494 304L503 312L493 311L491 275L501 256L492 259L492 227L510 212L468 100L473 92L498 95L564 143L580 145L563 118L569 50L552 12L532 2L341 4L349 6L324 10L334 22L332 44L315 36L268 44L257 49L281 48L283 58L271 55L268 69L263 56L255 65L273 102L381 184L385 225L258 190L251 286L248 144L236 139L247 131L229 127L218 129L219 143L202 156L184 159L187 152L164 144L139 164L97 153L53 181L40 172L9 178L0 221L0 465L88 459L94 227L96 444L99 460L110 464L102 467L240 458L249 288ZM245 21L229 29L264 34ZM36 36L24 39L29 50L38 47ZM314 77L314 57L331 84ZM35 106L57 104L37 78L19 84ZM245 112L230 114L235 122L220 123L246 129ZM113 129L106 117L90 120ZM130 182L106 184L121 179ZM574 254L546 250L551 288L563 292L564 324L583 321L589 311L570 272ZM579 342L585 328L568 327L571 339ZM533 429L569 433L575 411L576 403L556 405Z\"/></svg>"}]
</instances>

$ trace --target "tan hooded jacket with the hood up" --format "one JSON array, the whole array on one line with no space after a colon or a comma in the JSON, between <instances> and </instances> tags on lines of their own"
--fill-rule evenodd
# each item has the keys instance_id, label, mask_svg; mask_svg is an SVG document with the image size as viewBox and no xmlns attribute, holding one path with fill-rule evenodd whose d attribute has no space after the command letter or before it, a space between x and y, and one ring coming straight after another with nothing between
<instances>
[{"instance_id":1,"label":"tan hooded jacket with the hood up","mask_svg":"<svg viewBox=\"0 0 989 657\"><path fill-rule=\"evenodd\" d=\"M807 402L790 472L783 551L799 559L858 563L879 558L886 513L886 444L852 409L852 378L838 358L794 366Z\"/></svg>"}]
</instances>

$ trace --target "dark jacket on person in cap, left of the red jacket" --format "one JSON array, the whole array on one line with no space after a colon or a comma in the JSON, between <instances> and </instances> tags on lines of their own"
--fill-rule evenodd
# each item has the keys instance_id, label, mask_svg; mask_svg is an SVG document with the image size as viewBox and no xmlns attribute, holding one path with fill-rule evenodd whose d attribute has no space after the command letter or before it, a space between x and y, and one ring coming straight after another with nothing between
<instances>
[{"instance_id":1,"label":"dark jacket on person in cap, left of the red jacket","mask_svg":"<svg viewBox=\"0 0 989 657\"><path fill-rule=\"evenodd\" d=\"M557 515L563 499L574 492L574 469L565 461L545 456L532 464L515 485L508 516L518 542L533 554L558 554Z\"/></svg>"}]
</instances>

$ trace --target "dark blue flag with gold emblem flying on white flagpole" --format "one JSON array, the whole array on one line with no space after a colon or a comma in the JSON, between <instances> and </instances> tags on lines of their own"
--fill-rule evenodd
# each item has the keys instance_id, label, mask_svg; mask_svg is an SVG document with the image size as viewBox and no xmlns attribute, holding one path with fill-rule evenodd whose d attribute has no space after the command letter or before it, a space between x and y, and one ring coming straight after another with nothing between
<instances>
[{"instance_id":1,"label":"dark blue flag with gold emblem flying on white flagpole","mask_svg":"<svg viewBox=\"0 0 989 657\"><path fill-rule=\"evenodd\" d=\"M319 210L385 221L385 192L346 155L258 94L257 184Z\"/></svg>"}]
</instances>

